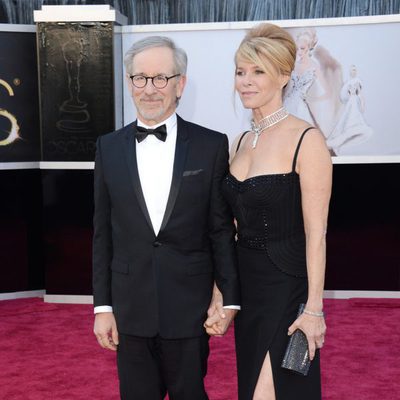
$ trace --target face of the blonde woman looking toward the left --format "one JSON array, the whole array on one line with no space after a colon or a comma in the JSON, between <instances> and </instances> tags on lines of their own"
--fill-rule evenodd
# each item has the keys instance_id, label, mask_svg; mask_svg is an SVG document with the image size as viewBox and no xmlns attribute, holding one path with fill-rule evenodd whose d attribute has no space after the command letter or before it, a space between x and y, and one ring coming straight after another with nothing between
<instances>
[{"instance_id":1,"label":"face of the blonde woman looking toward the left","mask_svg":"<svg viewBox=\"0 0 400 400\"><path fill-rule=\"evenodd\" d=\"M284 78L284 77L283 77ZM235 89L245 108L270 114L281 107L283 84L273 79L262 68L238 59L235 73Z\"/></svg>"}]
</instances>

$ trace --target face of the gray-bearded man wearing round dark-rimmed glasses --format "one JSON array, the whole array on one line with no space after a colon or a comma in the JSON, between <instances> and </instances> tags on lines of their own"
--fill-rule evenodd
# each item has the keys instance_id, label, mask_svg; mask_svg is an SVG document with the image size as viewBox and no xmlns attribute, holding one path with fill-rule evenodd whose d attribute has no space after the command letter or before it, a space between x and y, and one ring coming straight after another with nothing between
<instances>
[{"instance_id":1,"label":"face of the gray-bearded man wearing round dark-rimmed glasses","mask_svg":"<svg viewBox=\"0 0 400 400\"><path fill-rule=\"evenodd\" d=\"M128 75L171 76L177 71L174 66L173 52L167 47L154 47L137 54L132 63L132 71ZM182 96L186 78L171 78L163 89L157 89L147 80L145 87L138 89L129 78L129 90L135 103L138 118L146 125L156 125L175 112L176 99Z\"/></svg>"}]
</instances>

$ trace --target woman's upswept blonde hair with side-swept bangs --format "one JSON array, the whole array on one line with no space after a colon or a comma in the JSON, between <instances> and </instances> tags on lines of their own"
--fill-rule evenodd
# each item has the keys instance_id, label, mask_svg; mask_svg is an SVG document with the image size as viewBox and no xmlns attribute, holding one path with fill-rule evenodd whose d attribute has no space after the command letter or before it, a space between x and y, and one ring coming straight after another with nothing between
<instances>
[{"instance_id":1,"label":"woman's upswept blonde hair with side-swept bangs","mask_svg":"<svg viewBox=\"0 0 400 400\"><path fill-rule=\"evenodd\" d=\"M235 64L241 59L258 65L265 73L277 79L294 69L296 44L283 28L263 23L250 29L235 53Z\"/></svg>"}]
</instances>

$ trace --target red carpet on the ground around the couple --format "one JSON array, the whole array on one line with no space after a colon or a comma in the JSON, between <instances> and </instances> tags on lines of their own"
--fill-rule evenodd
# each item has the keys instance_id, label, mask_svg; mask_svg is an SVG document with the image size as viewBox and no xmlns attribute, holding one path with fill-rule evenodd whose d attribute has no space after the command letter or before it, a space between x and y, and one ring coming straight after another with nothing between
<instances>
[{"instance_id":1,"label":"red carpet on the ground around the couple","mask_svg":"<svg viewBox=\"0 0 400 400\"><path fill-rule=\"evenodd\" d=\"M323 399L400 400L400 300L326 300L325 310ZM92 323L90 305L0 301L0 400L117 400L115 355ZM211 340L210 400L237 398L235 374L231 329Z\"/></svg>"}]
</instances>

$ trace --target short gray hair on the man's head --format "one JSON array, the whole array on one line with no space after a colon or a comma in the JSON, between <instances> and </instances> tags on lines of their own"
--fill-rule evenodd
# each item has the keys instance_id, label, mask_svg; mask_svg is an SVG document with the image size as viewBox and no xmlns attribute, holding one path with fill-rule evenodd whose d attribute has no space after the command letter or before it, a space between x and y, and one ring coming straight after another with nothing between
<instances>
[{"instance_id":1,"label":"short gray hair on the man's head","mask_svg":"<svg viewBox=\"0 0 400 400\"><path fill-rule=\"evenodd\" d=\"M127 73L132 73L133 58L144 50L154 47L167 47L172 50L174 57L175 69L174 73L186 75L187 55L185 50L177 47L174 41L165 36L149 36L135 42L131 48L125 53L124 65Z\"/></svg>"}]
</instances>

